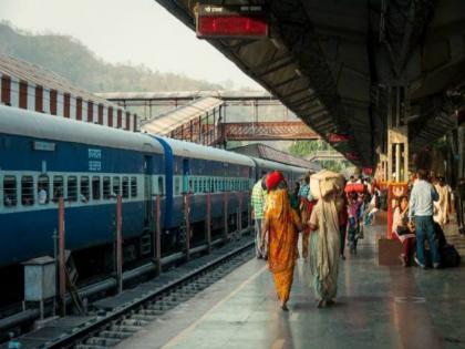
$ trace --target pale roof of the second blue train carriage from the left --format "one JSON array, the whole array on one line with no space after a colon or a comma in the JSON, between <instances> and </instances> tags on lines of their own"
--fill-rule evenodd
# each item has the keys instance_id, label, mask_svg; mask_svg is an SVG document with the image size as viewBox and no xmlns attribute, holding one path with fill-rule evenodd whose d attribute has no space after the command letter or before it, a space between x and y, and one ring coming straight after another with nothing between
<instances>
[{"instance_id":1,"label":"pale roof of the second blue train carriage from the left","mask_svg":"<svg viewBox=\"0 0 465 349\"><path fill-rule=\"evenodd\" d=\"M254 161L246 155L240 155L234 152L218 150L211 146L205 146L196 143L167 138L159 135L156 135L156 137L164 140L172 147L173 154L177 156L204 158L255 167Z\"/></svg>"}]
</instances>

